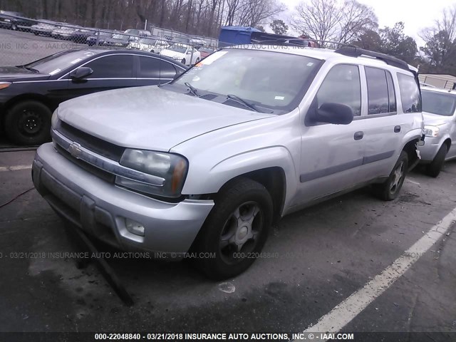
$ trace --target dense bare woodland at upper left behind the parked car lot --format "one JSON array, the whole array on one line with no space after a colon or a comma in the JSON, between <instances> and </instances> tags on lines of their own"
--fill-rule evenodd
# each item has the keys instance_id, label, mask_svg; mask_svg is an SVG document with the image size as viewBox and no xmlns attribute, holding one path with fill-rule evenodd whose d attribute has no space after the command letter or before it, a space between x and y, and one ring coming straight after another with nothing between
<instances>
[{"instance_id":1,"label":"dense bare woodland at upper left behind the parked car lot","mask_svg":"<svg viewBox=\"0 0 456 342\"><path fill-rule=\"evenodd\" d=\"M260 26L286 9L279 0L0 0L34 19L125 30L154 25L217 37L221 26Z\"/></svg>"}]
</instances>

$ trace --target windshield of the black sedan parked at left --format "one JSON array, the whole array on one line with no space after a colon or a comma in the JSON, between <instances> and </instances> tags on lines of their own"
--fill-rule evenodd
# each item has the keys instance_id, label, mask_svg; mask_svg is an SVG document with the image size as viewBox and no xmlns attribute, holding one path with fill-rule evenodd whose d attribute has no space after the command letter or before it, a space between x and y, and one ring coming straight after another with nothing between
<instances>
[{"instance_id":1,"label":"windshield of the black sedan parked at left","mask_svg":"<svg viewBox=\"0 0 456 342\"><path fill-rule=\"evenodd\" d=\"M54 75L59 73L73 64L79 63L84 59L95 55L93 51L63 51L55 53L51 56L39 59L32 63L26 64L27 68L33 68L39 71L40 73L47 73L49 75Z\"/></svg>"}]
</instances>

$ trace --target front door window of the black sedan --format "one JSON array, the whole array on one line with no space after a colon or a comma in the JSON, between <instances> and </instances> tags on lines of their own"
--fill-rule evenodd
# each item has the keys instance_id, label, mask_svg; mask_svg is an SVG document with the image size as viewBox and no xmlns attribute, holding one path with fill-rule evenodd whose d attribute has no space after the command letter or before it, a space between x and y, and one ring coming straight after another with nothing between
<instances>
[{"instance_id":1,"label":"front door window of the black sedan","mask_svg":"<svg viewBox=\"0 0 456 342\"><path fill-rule=\"evenodd\" d=\"M88 78L131 78L133 77L133 56L105 56L86 64L92 68Z\"/></svg>"}]
</instances>

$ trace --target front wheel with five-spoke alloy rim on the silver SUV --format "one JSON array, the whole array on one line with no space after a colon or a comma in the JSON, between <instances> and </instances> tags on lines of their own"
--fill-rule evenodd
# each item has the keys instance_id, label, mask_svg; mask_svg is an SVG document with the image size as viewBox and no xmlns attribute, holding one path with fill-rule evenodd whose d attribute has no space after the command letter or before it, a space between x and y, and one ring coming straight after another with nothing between
<instances>
[{"instance_id":1,"label":"front wheel with five-spoke alloy rim on the silver SUV","mask_svg":"<svg viewBox=\"0 0 456 342\"><path fill-rule=\"evenodd\" d=\"M271 229L273 205L266 188L248 178L229 182L214 202L192 245L197 256L209 257L192 260L207 277L220 280L241 274L255 261L252 254L261 251Z\"/></svg>"}]
</instances>

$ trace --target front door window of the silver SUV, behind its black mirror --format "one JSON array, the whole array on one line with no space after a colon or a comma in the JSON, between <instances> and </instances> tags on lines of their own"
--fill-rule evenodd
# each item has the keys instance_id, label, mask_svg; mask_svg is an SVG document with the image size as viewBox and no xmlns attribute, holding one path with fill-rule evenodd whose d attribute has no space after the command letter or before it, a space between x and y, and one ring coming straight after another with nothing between
<instances>
[{"instance_id":1,"label":"front door window of the silver SUV, behind its black mirror","mask_svg":"<svg viewBox=\"0 0 456 342\"><path fill-rule=\"evenodd\" d=\"M358 66L340 64L328 72L314 99L316 108L323 103L342 103L361 115L361 81Z\"/></svg>"}]
</instances>

